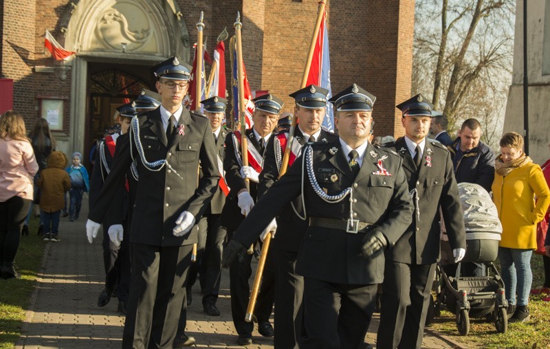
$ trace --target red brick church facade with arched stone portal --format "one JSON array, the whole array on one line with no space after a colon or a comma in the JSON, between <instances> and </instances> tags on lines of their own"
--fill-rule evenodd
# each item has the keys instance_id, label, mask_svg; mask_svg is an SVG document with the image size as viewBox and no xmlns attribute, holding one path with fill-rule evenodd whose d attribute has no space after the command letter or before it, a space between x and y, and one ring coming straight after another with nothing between
<instances>
[{"instance_id":1,"label":"red brick church facade with arched stone portal","mask_svg":"<svg viewBox=\"0 0 550 349\"><path fill-rule=\"evenodd\" d=\"M300 87L317 7L315 0L4 0L0 105L12 102L29 128L54 113L62 150L87 150L104 114L138 87L154 88L149 67L174 54L192 58L201 11L210 53L224 27L234 34L239 11L252 90L280 96L292 111L287 95ZM332 91L357 82L377 96L375 135L403 133L395 104L410 97L414 10L414 0L327 1ZM77 52L70 67L54 64L45 30ZM228 49L225 58L228 68Z\"/></svg>"}]
</instances>

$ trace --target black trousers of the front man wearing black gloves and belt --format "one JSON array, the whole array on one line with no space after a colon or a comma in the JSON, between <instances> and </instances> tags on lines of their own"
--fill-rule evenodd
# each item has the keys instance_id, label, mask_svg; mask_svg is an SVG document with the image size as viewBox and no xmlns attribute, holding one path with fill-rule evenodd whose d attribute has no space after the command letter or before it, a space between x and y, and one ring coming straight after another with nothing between
<instances>
[{"instance_id":1,"label":"black trousers of the front man wearing black gloves and belt","mask_svg":"<svg viewBox=\"0 0 550 349\"><path fill-rule=\"evenodd\" d=\"M377 284L336 284L304 278L306 337L300 348L362 348L371 324Z\"/></svg>"}]
</instances>

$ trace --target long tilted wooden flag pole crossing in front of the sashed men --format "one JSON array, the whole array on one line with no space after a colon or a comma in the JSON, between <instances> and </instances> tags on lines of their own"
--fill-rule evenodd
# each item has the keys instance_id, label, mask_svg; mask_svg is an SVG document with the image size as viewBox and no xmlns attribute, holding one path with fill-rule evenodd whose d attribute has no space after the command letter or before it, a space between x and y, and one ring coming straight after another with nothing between
<instances>
[{"instance_id":1,"label":"long tilted wooden flag pole crossing in front of the sashed men","mask_svg":"<svg viewBox=\"0 0 550 349\"><path fill-rule=\"evenodd\" d=\"M319 29L321 27L322 16L325 13L325 1L319 2L319 8L317 10L317 21L315 23L314 34L311 36L311 44L309 45L309 54L307 55L307 61L305 63L304 75L302 77L302 85L300 89L305 87L307 83L307 76L309 75L309 68L311 67L311 58L314 56L315 43L319 35ZM288 168L288 161L290 159L290 151L292 149L292 141L294 140L294 129L296 128L296 114L292 115L292 124L290 126L287 146L285 148L285 155L283 156L283 164L281 165L281 171L279 171L279 178L285 175ZM256 306L256 299L260 291L260 284L263 275L263 267L265 266L265 260L267 259L267 251L270 249L270 243L272 239L272 232L265 236L263 240L262 253L258 262L258 269L256 269L256 276L254 277L254 285L252 286L252 292L250 293L250 299L248 300L248 308L245 315L245 322L251 322L254 315L254 306Z\"/></svg>"}]
</instances>

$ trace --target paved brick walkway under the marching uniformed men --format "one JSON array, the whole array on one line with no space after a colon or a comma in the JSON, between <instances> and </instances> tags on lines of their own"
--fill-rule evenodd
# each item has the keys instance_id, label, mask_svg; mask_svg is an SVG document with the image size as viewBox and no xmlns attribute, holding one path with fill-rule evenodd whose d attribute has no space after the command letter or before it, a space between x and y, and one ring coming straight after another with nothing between
<instances>
[{"instance_id":1,"label":"paved brick walkway under the marching uniformed men","mask_svg":"<svg viewBox=\"0 0 550 349\"><path fill-rule=\"evenodd\" d=\"M43 270L39 272L31 310L23 324L23 335L16 348L120 348L124 317L117 313L118 302L99 308L97 298L103 288L104 268L101 238L90 245L85 238L87 198L80 220L62 218L60 243L47 243ZM251 281L252 282L252 281ZM217 306L220 317L202 312L199 286L193 289L186 333L195 337L197 348L239 348L231 321L229 274L223 272ZM366 341L375 343L378 317L369 328ZM273 348L273 340L255 330L254 345ZM448 339L432 334L424 337L425 348L456 348Z\"/></svg>"}]
</instances>

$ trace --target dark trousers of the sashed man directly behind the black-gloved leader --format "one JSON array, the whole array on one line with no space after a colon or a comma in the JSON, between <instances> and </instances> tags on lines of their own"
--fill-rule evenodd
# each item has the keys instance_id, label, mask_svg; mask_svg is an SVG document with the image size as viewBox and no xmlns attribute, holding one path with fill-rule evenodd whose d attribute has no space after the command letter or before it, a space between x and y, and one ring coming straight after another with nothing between
<instances>
[{"instance_id":1,"label":"dark trousers of the sashed man directly behind the black-gloved leader","mask_svg":"<svg viewBox=\"0 0 550 349\"><path fill-rule=\"evenodd\" d=\"M303 325L304 278L296 274L298 252L273 249L276 260L275 348L299 348Z\"/></svg>"}]
</instances>

